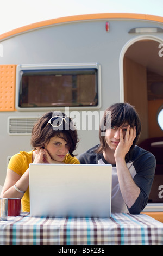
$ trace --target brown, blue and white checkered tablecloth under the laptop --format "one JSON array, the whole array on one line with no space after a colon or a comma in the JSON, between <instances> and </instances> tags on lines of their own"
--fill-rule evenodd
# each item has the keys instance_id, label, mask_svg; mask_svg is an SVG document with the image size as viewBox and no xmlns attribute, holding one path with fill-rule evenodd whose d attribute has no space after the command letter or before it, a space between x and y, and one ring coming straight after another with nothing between
<instances>
[{"instance_id":1,"label":"brown, blue and white checkered tablecloth under the laptop","mask_svg":"<svg viewBox=\"0 0 163 256\"><path fill-rule=\"evenodd\" d=\"M26 212L0 221L0 245L163 245L163 223L145 214L35 218Z\"/></svg>"}]
</instances>

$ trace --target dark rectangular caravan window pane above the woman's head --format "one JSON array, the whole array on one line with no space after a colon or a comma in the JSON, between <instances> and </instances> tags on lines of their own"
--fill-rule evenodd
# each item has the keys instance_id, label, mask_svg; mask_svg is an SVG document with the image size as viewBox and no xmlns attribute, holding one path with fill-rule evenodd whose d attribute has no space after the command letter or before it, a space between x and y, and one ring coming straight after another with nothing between
<instances>
[{"instance_id":1,"label":"dark rectangular caravan window pane above the woman's head","mask_svg":"<svg viewBox=\"0 0 163 256\"><path fill-rule=\"evenodd\" d=\"M96 68L21 70L19 108L98 105Z\"/></svg>"}]
</instances>

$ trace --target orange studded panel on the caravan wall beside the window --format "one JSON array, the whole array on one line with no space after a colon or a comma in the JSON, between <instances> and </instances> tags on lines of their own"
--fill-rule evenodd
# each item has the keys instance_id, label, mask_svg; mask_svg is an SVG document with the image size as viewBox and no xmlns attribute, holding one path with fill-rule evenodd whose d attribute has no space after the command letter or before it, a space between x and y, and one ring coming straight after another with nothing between
<instances>
[{"instance_id":1,"label":"orange studded panel on the caravan wall beside the window","mask_svg":"<svg viewBox=\"0 0 163 256\"><path fill-rule=\"evenodd\" d=\"M0 65L0 111L15 111L16 65Z\"/></svg>"}]
</instances>

